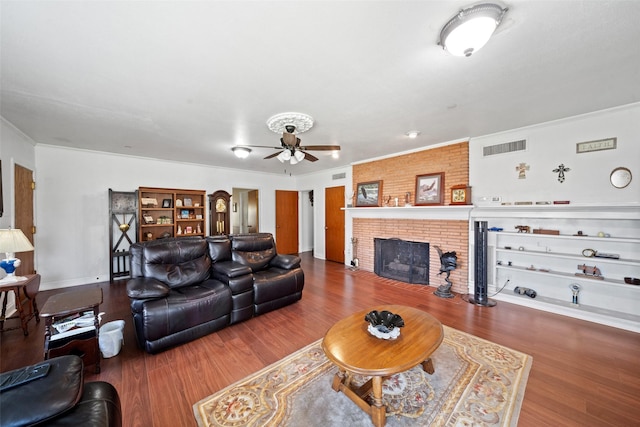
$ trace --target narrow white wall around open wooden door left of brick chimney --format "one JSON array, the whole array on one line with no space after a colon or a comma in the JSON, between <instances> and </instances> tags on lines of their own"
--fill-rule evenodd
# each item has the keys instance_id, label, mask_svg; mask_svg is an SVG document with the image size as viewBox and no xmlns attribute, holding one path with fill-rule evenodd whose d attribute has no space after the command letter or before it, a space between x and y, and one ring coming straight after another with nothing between
<instances>
[{"instance_id":1,"label":"narrow white wall around open wooden door left of brick chimney","mask_svg":"<svg viewBox=\"0 0 640 427\"><path fill-rule=\"evenodd\" d=\"M333 179L333 175L344 173L345 177ZM327 169L321 172L302 175L297 178L297 186L300 191L313 190L313 256L325 259L325 238L324 238L324 190L330 187L344 186L345 195L351 192L351 166ZM351 222L345 221L345 260L351 259L351 245L347 242L351 239Z\"/></svg>"}]
</instances>

